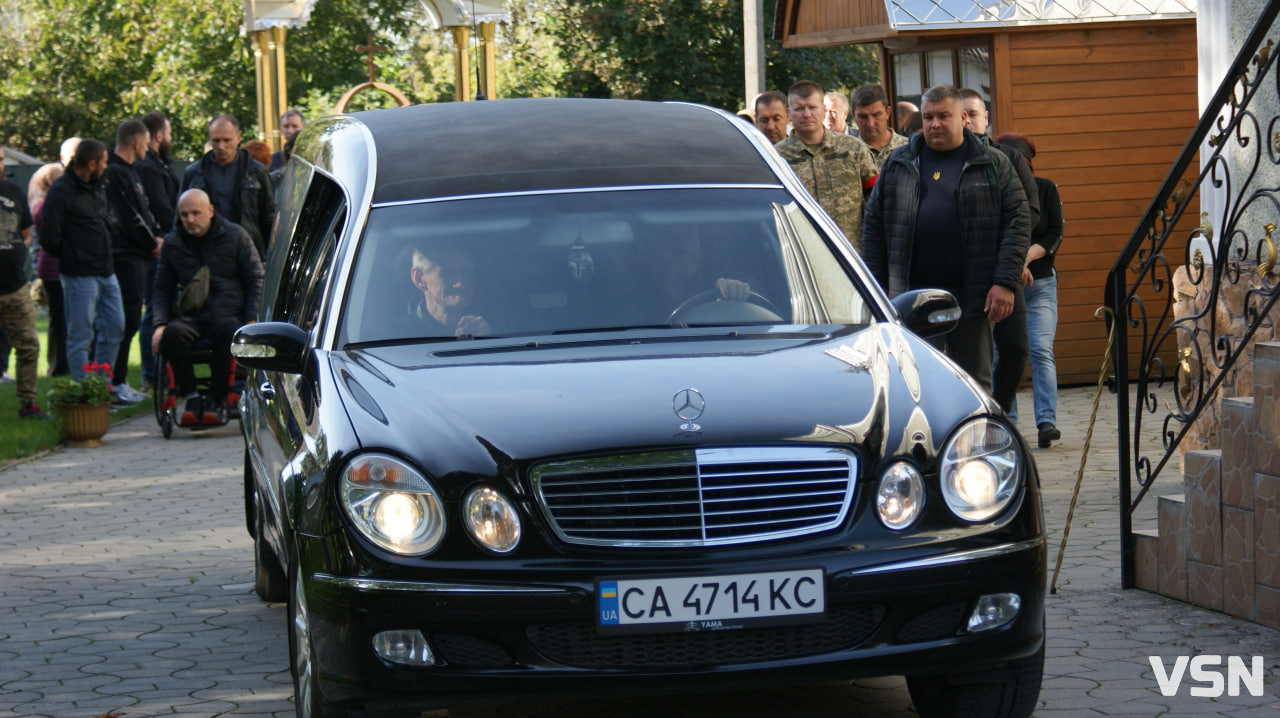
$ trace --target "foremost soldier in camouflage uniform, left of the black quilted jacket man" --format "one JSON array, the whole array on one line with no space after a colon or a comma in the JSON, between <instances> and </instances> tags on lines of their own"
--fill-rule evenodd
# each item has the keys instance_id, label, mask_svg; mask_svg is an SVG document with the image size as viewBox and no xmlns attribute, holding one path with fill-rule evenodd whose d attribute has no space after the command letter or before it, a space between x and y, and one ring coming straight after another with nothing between
<instances>
[{"instance_id":1,"label":"foremost soldier in camouflage uniform, left of the black quilted jacket man","mask_svg":"<svg viewBox=\"0 0 1280 718\"><path fill-rule=\"evenodd\" d=\"M787 92L791 134L776 148L800 182L845 233L858 252L863 246L865 192L876 184L876 161L856 137L828 132L822 87L801 81Z\"/></svg>"}]
</instances>

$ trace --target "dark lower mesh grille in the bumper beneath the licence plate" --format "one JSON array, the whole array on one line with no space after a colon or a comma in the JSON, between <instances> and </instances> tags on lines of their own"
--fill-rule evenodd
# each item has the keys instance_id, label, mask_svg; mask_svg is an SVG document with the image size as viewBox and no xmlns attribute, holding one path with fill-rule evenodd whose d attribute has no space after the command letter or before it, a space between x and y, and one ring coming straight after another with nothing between
<instances>
[{"instance_id":1,"label":"dark lower mesh grille in the bumper beneath the licence plate","mask_svg":"<svg viewBox=\"0 0 1280 718\"><path fill-rule=\"evenodd\" d=\"M591 623L530 626L534 649L561 666L673 668L733 666L851 650L884 618L879 605L832 610L822 623L698 634L602 636Z\"/></svg>"}]
</instances>

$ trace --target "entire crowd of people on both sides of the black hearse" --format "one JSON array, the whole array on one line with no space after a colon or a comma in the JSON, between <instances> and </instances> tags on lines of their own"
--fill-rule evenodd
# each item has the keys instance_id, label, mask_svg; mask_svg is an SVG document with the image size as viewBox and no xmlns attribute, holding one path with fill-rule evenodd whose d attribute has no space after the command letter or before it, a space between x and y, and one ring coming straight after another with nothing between
<instances>
[{"instance_id":1,"label":"entire crowd of people on both sides of the black hearse","mask_svg":"<svg viewBox=\"0 0 1280 718\"><path fill-rule=\"evenodd\" d=\"M1012 417L1030 361L1038 444L1057 440L1053 256L1062 210L1056 186L1032 172L1036 143L1016 133L988 137L983 96L948 84L925 91L916 108L891 104L878 84L850 97L803 81L786 95L762 93L742 115L890 296L936 287L959 298L957 328L931 342ZM221 420L227 389L215 381L210 394L196 393L191 349L211 339L211 369L221 376L230 334L256 315L274 188L303 124L297 110L285 113L284 150L271 154L264 142L243 142L234 116L218 115L207 151L179 183L169 169L169 120L150 113L120 123L113 148L68 140L61 161L42 166L26 196L0 184L0 370L12 344L20 417L46 417L36 401L27 283L35 247L51 375L81 378L109 363L114 401L138 402L143 392L128 384L137 338L143 390L157 381L151 357L163 351L186 399L179 424ZM195 306L192 288L201 285L209 296Z\"/></svg>"}]
</instances>

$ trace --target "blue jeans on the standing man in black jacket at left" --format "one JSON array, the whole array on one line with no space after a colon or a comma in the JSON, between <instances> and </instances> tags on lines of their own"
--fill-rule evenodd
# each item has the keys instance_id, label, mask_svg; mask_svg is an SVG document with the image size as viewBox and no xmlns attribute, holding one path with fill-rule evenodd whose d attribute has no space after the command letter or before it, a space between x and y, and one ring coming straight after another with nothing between
<instances>
[{"instance_id":1,"label":"blue jeans on the standing man in black jacket at left","mask_svg":"<svg viewBox=\"0 0 1280 718\"><path fill-rule=\"evenodd\" d=\"M95 340L93 361L111 363L124 338L124 299L115 275L63 275L63 303L67 315L67 363L72 379L84 378L88 346Z\"/></svg>"}]
</instances>

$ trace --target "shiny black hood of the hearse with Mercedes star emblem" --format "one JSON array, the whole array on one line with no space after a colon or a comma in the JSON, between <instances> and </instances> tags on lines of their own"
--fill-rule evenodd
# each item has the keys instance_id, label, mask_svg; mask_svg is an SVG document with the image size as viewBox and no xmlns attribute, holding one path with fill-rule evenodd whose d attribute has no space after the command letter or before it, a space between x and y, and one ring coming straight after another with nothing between
<instances>
[{"instance_id":1,"label":"shiny black hood of the hearse with Mercedes star emblem","mask_svg":"<svg viewBox=\"0 0 1280 718\"><path fill-rule=\"evenodd\" d=\"M820 443L858 447L869 461L927 459L959 421L997 411L954 363L888 323L329 357L360 443L408 453L438 476L663 447Z\"/></svg>"}]
</instances>

